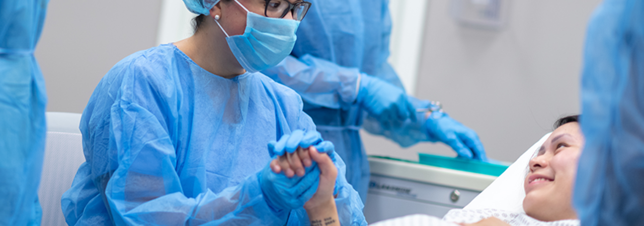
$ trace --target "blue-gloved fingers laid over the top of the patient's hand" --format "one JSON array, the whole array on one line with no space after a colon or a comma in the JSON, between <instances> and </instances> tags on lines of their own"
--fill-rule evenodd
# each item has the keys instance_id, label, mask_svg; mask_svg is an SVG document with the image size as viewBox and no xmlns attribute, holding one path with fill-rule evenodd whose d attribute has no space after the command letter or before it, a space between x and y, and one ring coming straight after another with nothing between
<instances>
[{"instance_id":1,"label":"blue-gloved fingers laid over the top of the patient's hand","mask_svg":"<svg viewBox=\"0 0 644 226\"><path fill-rule=\"evenodd\" d=\"M330 141L323 141L322 135L317 131L304 132L295 130L291 134L284 134L279 141L269 142L270 157L284 155L284 152L293 153L298 147L308 148L314 146L317 152L332 153L335 148Z\"/></svg>"}]
</instances>

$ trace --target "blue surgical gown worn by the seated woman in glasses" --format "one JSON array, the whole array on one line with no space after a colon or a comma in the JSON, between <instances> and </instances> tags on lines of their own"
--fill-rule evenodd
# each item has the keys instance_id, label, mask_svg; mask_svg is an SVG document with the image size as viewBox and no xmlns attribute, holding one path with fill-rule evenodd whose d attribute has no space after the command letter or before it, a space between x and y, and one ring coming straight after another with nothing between
<instances>
[{"instance_id":1,"label":"blue surgical gown worn by the seated woman in glasses","mask_svg":"<svg viewBox=\"0 0 644 226\"><path fill-rule=\"evenodd\" d=\"M134 53L102 78L82 114L86 162L62 196L66 221L308 225L303 208L269 207L258 180L269 141L315 130L302 105L261 73L216 76L173 44ZM341 223L365 225L357 192L337 182Z\"/></svg>"}]
</instances>

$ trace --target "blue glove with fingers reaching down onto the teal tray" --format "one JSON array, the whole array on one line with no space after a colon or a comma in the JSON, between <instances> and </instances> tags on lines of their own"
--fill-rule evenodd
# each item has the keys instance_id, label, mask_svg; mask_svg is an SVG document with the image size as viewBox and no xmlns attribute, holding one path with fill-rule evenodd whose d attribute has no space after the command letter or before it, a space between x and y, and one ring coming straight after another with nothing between
<instances>
[{"instance_id":1,"label":"blue glove with fingers reaching down onto the teal tray","mask_svg":"<svg viewBox=\"0 0 644 226\"><path fill-rule=\"evenodd\" d=\"M452 119L443 112L432 112L425 121L425 129L430 140L445 143L466 159L488 161L483 144L474 130Z\"/></svg>"}]
</instances>

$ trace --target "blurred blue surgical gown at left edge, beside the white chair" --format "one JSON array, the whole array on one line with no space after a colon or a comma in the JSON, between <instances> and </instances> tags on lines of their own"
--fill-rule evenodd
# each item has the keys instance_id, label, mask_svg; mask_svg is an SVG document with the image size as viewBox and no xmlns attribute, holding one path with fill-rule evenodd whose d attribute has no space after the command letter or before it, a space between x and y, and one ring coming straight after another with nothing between
<instances>
[{"instance_id":1,"label":"blurred blue surgical gown at left edge, beside the white chair","mask_svg":"<svg viewBox=\"0 0 644 226\"><path fill-rule=\"evenodd\" d=\"M33 49L47 0L0 0L0 225L40 225L47 103Z\"/></svg>"}]
</instances>

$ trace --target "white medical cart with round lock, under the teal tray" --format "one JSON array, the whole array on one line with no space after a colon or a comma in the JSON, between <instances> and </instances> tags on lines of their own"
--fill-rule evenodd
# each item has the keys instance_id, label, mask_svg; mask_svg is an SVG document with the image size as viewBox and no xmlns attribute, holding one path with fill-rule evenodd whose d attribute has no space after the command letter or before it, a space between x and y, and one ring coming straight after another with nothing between
<instances>
[{"instance_id":1,"label":"white medical cart with round lock, under the teal tray","mask_svg":"<svg viewBox=\"0 0 644 226\"><path fill-rule=\"evenodd\" d=\"M431 158L435 156L420 155L419 162L369 157L371 178L364 209L368 223L409 214L442 218L450 209L467 205L507 168L505 166L498 173L498 170L493 172L488 168L465 171L441 164L429 166L420 162L427 159L424 157L433 160ZM467 164L468 167L472 165L476 164ZM473 173L477 170L479 173Z\"/></svg>"}]
</instances>

